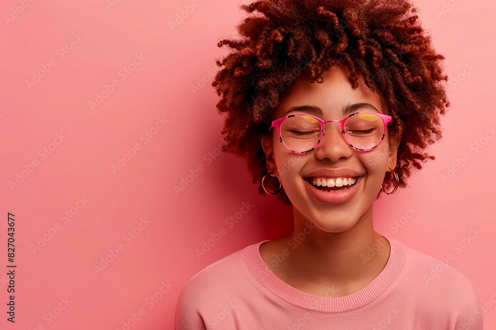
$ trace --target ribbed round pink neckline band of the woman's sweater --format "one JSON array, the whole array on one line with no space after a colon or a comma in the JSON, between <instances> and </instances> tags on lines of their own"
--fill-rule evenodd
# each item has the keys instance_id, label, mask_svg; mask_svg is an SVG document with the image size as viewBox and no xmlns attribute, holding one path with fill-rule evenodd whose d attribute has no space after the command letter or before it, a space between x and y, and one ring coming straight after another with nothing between
<instances>
[{"instance_id":1,"label":"ribbed round pink neckline band of the woman's sweater","mask_svg":"<svg viewBox=\"0 0 496 330\"><path fill-rule=\"evenodd\" d=\"M270 239L245 247L243 259L255 282L286 303L318 313L345 313L364 307L377 299L399 278L402 270L405 269L406 248L403 243L393 238L383 237L389 241L390 252L382 271L361 290L338 298L320 297L303 292L279 279L267 267L260 255L260 245Z\"/></svg>"}]
</instances>

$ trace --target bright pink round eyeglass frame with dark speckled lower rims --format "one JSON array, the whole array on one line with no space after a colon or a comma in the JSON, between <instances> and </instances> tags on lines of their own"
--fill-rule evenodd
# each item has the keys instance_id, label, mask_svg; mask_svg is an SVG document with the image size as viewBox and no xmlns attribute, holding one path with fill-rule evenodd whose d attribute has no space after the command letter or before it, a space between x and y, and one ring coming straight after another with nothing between
<instances>
[{"instance_id":1,"label":"bright pink round eyeglass frame with dark speckled lower rims","mask_svg":"<svg viewBox=\"0 0 496 330\"><path fill-rule=\"evenodd\" d=\"M357 148L355 146L353 146L347 139L346 139L346 136L345 136L345 133L347 130L344 129L344 124L346 123L346 121L348 120L348 118L352 117L352 116L355 116L357 114L360 114L360 113L372 113L374 115L377 115L380 117L380 119L382 119L382 124L384 125L384 130L382 132L382 138L380 138L379 142L372 148L370 149L360 149L360 148ZM282 137L281 137L281 126L282 126L282 123L288 119L288 118L291 118L291 117L296 117L296 116L307 116L307 117L311 117L315 120L318 121L318 123L320 124L320 138L318 138L318 141L317 143L308 151L295 151L295 150L292 150L291 148L289 148L285 143L284 141L282 141ZM379 112L374 112L374 111L359 111L359 112L354 112L352 113L351 115L349 116L346 116L344 117L343 119L341 120L327 120L327 121L324 121L318 117L315 117L315 116L312 116L312 115L308 115L308 114L303 114L303 113L299 113L299 114L293 114L293 115L289 115L289 116L286 116L286 117L282 117L282 118L279 118L279 119L276 119L274 121L272 121L270 127L269 127L269 132L270 130L275 127L277 129L277 133L279 135L279 141L281 141L282 145L284 145L286 147L286 149L288 149L289 151L291 152L294 152L294 153L298 153L298 154L303 154L303 153L307 153L307 152L310 152L312 150L314 150L318 144L320 143L320 141L322 141L322 137L324 136L324 125L327 124L327 123L339 123L340 126L341 126L341 132L343 133L343 138L344 138L344 141L346 141L346 143L352 147L353 149L356 149L358 151L361 151L361 152L366 152L366 151L371 151L373 149L375 149L377 146L379 146L379 144L382 142L382 140L384 140L384 136L386 134L386 129L387 129L387 124L393 123L393 117L389 116L389 115L386 115L386 114L383 114L383 113L379 113Z\"/></svg>"}]
</instances>

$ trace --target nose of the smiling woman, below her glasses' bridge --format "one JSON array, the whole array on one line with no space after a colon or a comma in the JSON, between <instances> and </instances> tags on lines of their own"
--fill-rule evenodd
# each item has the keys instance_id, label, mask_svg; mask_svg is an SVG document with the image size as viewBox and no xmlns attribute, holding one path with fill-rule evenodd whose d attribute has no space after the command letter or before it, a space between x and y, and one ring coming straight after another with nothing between
<instances>
[{"instance_id":1,"label":"nose of the smiling woman, below her glasses' bridge","mask_svg":"<svg viewBox=\"0 0 496 330\"><path fill-rule=\"evenodd\" d=\"M318 158L329 158L337 161L341 157L348 157L353 152L350 145L346 142L341 131L339 120L329 120L324 123L324 134L322 140L315 148L315 154Z\"/></svg>"}]
</instances>

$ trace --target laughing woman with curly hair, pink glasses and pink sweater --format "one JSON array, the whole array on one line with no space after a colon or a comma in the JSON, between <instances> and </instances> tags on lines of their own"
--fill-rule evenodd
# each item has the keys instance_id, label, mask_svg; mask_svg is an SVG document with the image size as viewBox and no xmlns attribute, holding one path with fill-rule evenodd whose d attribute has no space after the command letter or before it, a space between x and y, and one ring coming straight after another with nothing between
<instances>
[{"instance_id":1,"label":"laughing woman with curly hair, pink glasses and pink sweater","mask_svg":"<svg viewBox=\"0 0 496 330\"><path fill-rule=\"evenodd\" d=\"M241 7L262 15L238 26L244 39L218 44L233 49L212 83L227 114L225 151L245 160L260 194L292 205L294 230L193 276L176 329L482 329L464 275L373 230L381 191L406 188L434 159L425 151L449 106L444 57L417 9L407 0Z\"/></svg>"}]
</instances>

